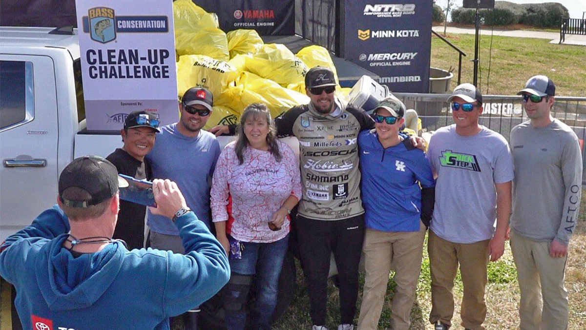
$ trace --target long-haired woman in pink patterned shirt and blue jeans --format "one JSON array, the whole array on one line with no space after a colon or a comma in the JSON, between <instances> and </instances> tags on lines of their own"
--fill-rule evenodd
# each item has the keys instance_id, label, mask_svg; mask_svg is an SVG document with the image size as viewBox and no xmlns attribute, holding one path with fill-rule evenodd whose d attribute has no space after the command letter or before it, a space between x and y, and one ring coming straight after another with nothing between
<instances>
[{"instance_id":1,"label":"long-haired woman in pink patterned shirt and blue jeans","mask_svg":"<svg viewBox=\"0 0 586 330\"><path fill-rule=\"evenodd\" d=\"M289 213L301 199L301 175L292 149L277 140L264 104L244 110L237 140L217 161L211 196L216 236L231 268L222 294L226 328L244 329L244 305L256 274L251 322L253 329L270 329L289 241Z\"/></svg>"}]
</instances>

